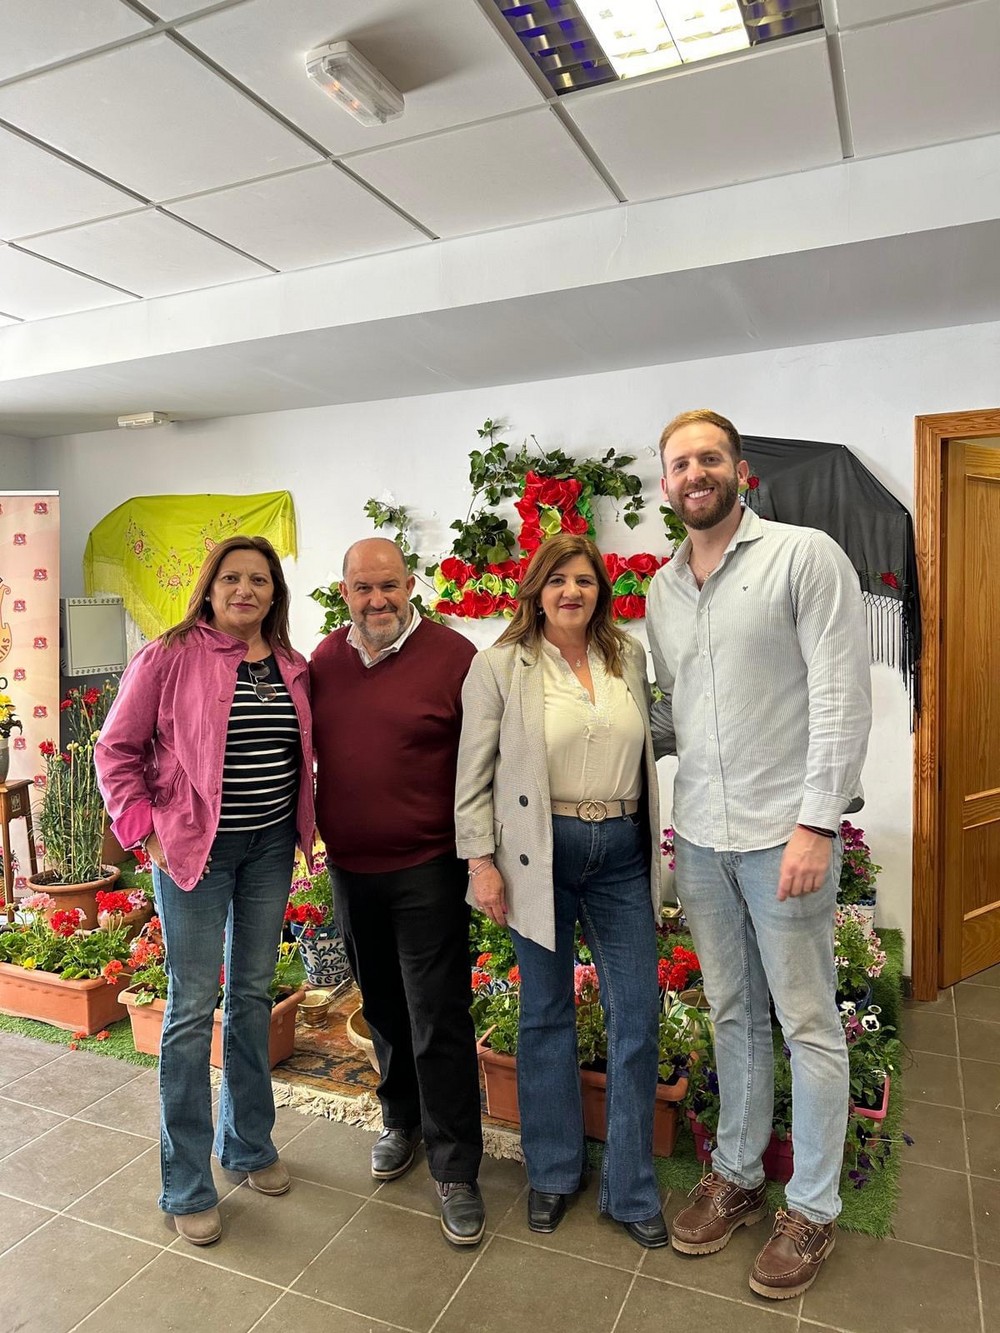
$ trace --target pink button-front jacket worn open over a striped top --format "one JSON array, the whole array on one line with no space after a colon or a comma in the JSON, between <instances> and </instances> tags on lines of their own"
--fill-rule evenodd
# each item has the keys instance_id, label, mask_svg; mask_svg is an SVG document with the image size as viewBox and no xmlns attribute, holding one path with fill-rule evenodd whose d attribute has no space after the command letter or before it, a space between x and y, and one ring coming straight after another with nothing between
<instances>
[{"instance_id":1,"label":"pink button-front jacket worn open over a striped top","mask_svg":"<svg viewBox=\"0 0 1000 1333\"><path fill-rule=\"evenodd\" d=\"M180 644L147 644L128 664L101 728L93 761L97 784L123 846L156 833L171 877L181 889L201 878L219 828L223 760L236 670L247 645L211 625ZM275 649L281 680L299 714L303 765L296 829L312 854L312 716L309 673L301 653Z\"/></svg>"}]
</instances>

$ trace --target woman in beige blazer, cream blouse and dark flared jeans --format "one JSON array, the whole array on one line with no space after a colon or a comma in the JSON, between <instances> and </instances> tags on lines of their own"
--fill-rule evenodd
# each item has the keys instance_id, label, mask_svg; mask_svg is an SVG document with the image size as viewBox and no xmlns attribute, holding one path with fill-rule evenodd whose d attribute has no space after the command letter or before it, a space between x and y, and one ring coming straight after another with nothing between
<instances>
[{"instance_id":1,"label":"woman in beige blazer, cream blouse and dark flared jeans","mask_svg":"<svg viewBox=\"0 0 1000 1333\"><path fill-rule=\"evenodd\" d=\"M580 921L608 1029L597 1206L667 1244L652 1166L659 992L659 796L645 653L612 621L600 552L536 551L517 612L463 690L456 826L471 901L511 929L521 976L517 1085L528 1225L552 1232L585 1166L573 937Z\"/></svg>"}]
</instances>

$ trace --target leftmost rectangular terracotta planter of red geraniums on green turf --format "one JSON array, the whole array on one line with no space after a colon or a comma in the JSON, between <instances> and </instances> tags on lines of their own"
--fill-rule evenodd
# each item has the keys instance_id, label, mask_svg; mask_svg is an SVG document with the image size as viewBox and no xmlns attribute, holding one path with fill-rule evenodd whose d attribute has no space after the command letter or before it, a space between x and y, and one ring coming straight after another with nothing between
<instances>
[{"instance_id":1,"label":"leftmost rectangular terracotta planter of red geraniums on green turf","mask_svg":"<svg viewBox=\"0 0 1000 1333\"><path fill-rule=\"evenodd\" d=\"M125 930L83 922L81 908L60 908L47 893L21 900L17 921L0 930L0 1010L88 1034L115 1021Z\"/></svg>"}]
</instances>

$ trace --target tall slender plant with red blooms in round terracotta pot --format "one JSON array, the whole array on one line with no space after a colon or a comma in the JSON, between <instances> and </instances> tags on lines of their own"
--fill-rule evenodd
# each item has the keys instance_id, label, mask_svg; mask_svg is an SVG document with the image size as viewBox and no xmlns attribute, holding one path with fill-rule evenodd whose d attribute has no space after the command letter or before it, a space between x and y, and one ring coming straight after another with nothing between
<instances>
[{"instance_id":1,"label":"tall slender plant with red blooms in round terracotta pot","mask_svg":"<svg viewBox=\"0 0 1000 1333\"><path fill-rule=\"evenodd\" d=\"M81 908L91 928L97 925L97 890L111 889L119 874L101 864L105 814L93 768L93 745L116 693L113 680L71 689L60 704L69 733L65 749L51 740L39 746L45 761L39 849L48 869L28 882L57 898L63 910Z\"/></svg>"}]
</instances>

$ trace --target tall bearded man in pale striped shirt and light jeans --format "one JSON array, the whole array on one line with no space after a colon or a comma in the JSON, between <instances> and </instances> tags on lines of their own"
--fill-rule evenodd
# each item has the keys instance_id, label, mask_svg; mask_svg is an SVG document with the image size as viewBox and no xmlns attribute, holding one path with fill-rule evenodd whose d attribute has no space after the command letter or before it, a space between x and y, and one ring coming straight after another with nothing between
<instances>
[{"instance_id":1,"label":"tall bearded man in pale striped shirt and light jeans","mask_svg":"<svg viewBox=\"0 0 1000 1333\"><path fill-rule=\"evenodd\" d=\"M859 790L871 672L857 575L811 528L739 503L736 428L685 412L660 437L663 492L688 536L653 579L647 625L677 754L676 882L715 1020L712 1172L673 1248L711 1254L765 1212L773 1054L768 992L791 1050L795 1174L749 1276L785 1300L833 1248L848 1113L833 912L840 818Z\"/></svg>"}]
</instances>

